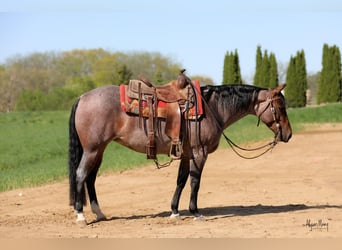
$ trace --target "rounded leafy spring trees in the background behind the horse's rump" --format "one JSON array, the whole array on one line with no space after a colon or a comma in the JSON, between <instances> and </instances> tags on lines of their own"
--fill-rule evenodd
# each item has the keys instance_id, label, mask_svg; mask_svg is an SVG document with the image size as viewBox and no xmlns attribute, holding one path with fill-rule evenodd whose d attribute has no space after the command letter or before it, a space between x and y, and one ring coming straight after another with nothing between
<instances>
[{"instance_id":1,"label":"rounded leafy spring trees in the background behind the horse's rump","mask_svg":"<svg viewBox=\"0 0 342 250\"><path fill-rule=\"evenodd\" d=\"M181 68L153 52L90 49L14 56L0 65L0 111L66 110L90 89L140 76L160 85L176 79Z\"/></svg>"}]
</instances>

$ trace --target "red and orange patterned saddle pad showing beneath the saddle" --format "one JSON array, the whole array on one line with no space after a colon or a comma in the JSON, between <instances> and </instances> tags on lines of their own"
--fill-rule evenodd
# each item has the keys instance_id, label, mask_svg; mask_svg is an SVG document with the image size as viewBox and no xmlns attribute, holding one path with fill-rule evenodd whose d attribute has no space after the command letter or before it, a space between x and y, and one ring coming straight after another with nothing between
<instances>
[{"instance_id":1,"label":"red and orange patterned saddle pad showing beneath the saddle","mask_svg":"<svg viewBox=\"0 0 342 250\"><path fill-rule=\"evenodd\" d=\"M196 88L196 100L197 100L197 119L203 115L202 97L201 97L201 86L198 80L193 81ZM128 86L120 85L120 105L124 112L139 115L139 103L138 99L131 98L127 95ZM149 108L146 101L141 101L143 116L149 116ZM167 117L168 105L166 102L158 101L157 115L161 118ZM186 119L194 120L196 119L196 105L188 110L185 114Z\"/></svg>"}]
</instances>

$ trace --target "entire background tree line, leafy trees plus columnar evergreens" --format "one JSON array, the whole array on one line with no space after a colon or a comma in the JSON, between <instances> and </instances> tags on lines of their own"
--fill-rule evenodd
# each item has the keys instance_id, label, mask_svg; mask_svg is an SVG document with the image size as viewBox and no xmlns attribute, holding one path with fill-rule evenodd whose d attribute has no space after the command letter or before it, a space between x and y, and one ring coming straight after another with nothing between
<instances>
[{"instance_id":1,"label":"entire background tree line, leafy trees plus columnar evergreens","mask_svg":"<svg viewBox=\"0 0 342 250\"><path fill-rule=\"evenodd\" d=\"M253 84L264 88L277 86L275 54L257 46L255 62ZM0 112L67 110L80 94L90 89L127 83L140 76L160 85L175 79L181 68L174 60L151 52L90 49L14 56L0 64ZM213 84L209 77L191 77ZM222 84L234 83L243 83L237 50L228 51L223 62ZM342 101L339 48L324 44L322 70L310 76L306 72L304 50L298 51L290 57L286 84L285 97L290 107L304 107L309 98L318 104Z\"/></svg>"}]
</instances>

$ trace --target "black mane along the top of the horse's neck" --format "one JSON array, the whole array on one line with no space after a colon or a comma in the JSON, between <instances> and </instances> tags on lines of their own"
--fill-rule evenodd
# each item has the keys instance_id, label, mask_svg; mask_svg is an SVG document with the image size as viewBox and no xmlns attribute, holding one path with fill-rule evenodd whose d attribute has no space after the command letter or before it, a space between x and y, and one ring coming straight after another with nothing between
<instances>
[{"instance_id":1,"label":"black mane along the top of the horse's neck","mask_svg":"<svg viewBox=\"0 0 342 250\"><path fill-rule=\"evenodd\" d=\"M213 105L247 108L252 102L254 103L260 90L263 88L245 84L208 85L202 87L202 94L206 102L213 98Z\"/></svg>"}]
</instances>

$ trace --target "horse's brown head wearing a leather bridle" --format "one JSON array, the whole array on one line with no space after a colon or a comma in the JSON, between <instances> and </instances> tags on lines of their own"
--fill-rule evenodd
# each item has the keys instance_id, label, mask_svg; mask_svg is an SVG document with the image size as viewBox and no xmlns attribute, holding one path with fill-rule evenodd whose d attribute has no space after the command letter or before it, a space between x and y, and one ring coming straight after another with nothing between
<instances>
[{"instance_id":1,"label":"horse's brown head wearing a leather bridle","mask_svg":"<svg viewBox=\"0 0 342 250\"><path fill-rule=\"evenodd\" d=\"M285 98L281 91L284 85L270 90L261 90L255 104L255 113L275 134L276 141L288 142L292 129L286 113Z\"/></svg>"}]
</instances>

